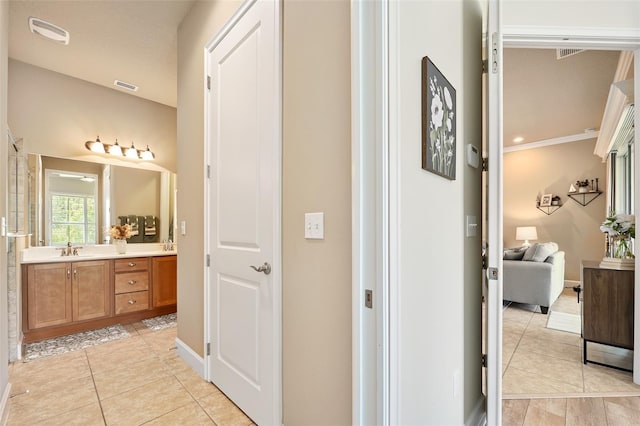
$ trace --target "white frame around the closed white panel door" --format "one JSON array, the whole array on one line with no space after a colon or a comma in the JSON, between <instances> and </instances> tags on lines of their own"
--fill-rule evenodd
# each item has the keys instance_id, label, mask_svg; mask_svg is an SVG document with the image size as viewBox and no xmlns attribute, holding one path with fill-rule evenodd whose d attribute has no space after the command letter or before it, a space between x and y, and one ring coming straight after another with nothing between
<instances>
[{"instance_id":1,"label":"white frame around the closed white panel door","mask_svg":"<svg viewBox=\"0 0 640 426\"><path fill-rule=\"evenodd\" d=\"M213 39L207 43L204 48L204 70L202 78L202 92L205 99L204 108L204 123L205 123L205 144L204 144L204 232L205 236L210 235L213 224L209 221L211 213L211 202L209 197L210 185L212 184L209 179L209 164L210 149L206 141L208 141L208 135L211 131L209 125L207 112L209 111L209 96L207 90L207 74L209 69L209 53L222 41L222 39L231 31L235 24L247 13L251 6L258 0L245 0L240 8L233 14L233 16L227 21L227 23L220 29L220 31L213 37ZM265 1L265 0L260 0ZM273 260L272 260L272 286L273 286L273 298L274 298L274 325L273 325L273 369L274 369L274 413L278 420L274 420L274 424L282 424L282 2L279 0L273 1L276 8L275 13L275 33L276 40L274 40L276 52L276 81L274 85L276 87L276 93L278 93L277 99L274 100L276 104L276 110L278 114L276 127L276 140L275 149L277 153L274 158L274 182L273 182L273 200L274 200L274 212L273 212ZM204 239L204 342L203 347L203 373L204 379L211 381L211 372L209 371L209 357L208 343L211 341L213 330L209 327L211 323L212 306L211 301L211 289L209 288L209 282L211 280L211 269L208 266L209 253L211 248L209 244L209 238ZM240 407L242 408L242 407Z\"/></svg>"}]
</instances>

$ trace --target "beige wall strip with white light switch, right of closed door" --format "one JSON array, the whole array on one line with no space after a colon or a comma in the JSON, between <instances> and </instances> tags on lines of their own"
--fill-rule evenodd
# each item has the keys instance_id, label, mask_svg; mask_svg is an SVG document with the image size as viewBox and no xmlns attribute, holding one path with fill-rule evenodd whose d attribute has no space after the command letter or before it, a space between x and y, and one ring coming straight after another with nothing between
<instances>
[{"instance_id":1,"label":"beige wall strip with white light switch, right of closed door","mask_svg":"<svg viewBox=\"0 0 640 426\"><path fill-rule=\"evenodd\" d=\"M287 425L351 423L349 2L285 1L283 390ZM330 29L330 30L328 30ZM304 239L304 213L325 239Z\"/></svg>"}]
</instances>

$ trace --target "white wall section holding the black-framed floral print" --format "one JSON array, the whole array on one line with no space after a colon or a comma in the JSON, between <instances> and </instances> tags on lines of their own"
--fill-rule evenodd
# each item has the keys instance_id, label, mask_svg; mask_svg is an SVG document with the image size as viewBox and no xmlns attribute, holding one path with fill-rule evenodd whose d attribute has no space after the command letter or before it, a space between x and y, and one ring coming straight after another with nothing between
<instances>
[{"instance_id":1,"label":"white wall section holding the black-framed floral print","mask_svg":"<svg viewBox=\"0 0 640 426\"><path fill-rule=\"evenodd\" d=\"M482 403L480 237L464 234L466 214L480 220L481 180L463 161L467 143L481 145L482 11L463 1L390 6L392 422L464 424ZM421 168L423 56L457 92L454 181Z\"/></svg>"}]
</instances>

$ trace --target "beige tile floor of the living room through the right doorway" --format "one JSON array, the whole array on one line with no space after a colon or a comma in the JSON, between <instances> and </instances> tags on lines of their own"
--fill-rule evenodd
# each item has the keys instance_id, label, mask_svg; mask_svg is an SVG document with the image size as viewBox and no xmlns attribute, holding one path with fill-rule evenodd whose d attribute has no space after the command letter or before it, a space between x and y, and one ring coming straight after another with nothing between
<instances>
[{"instance_id":1,"label":"beige tile floor of the living room through the right doorway","mask_svg":"<svg viewBox=\"0 0 640 426\"><path fill-rule=\"evenodd\" d=\"M579 314L572 289L551 307ZM583 364L579 334L546 328L537 306L512 304L503 315L503 398L640 396L631 373ZM630 351L589 344L589 358L630 366ZM640 420L639 420L640 423Z\"/></svg>"}]
</instances>

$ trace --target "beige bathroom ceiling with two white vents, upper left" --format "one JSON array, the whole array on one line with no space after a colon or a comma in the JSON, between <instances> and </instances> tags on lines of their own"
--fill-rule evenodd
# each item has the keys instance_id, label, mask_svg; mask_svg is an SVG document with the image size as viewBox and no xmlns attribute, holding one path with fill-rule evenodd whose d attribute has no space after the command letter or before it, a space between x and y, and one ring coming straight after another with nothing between
<instances>
[{"instance_id":1,"label":"beige bathroom ceiling with two white vents, upper left","mask_svg":"<svg viewBox=\"0 0 640 426\"><path fill-rule=\"evenodd\" d=\"M11 0L9 57L175 107L178 25L194 0ZM67 46L29 31L34 16L70 33ZM116 88L119 79L137 92Z\"/></svg>"}]
</instances>

